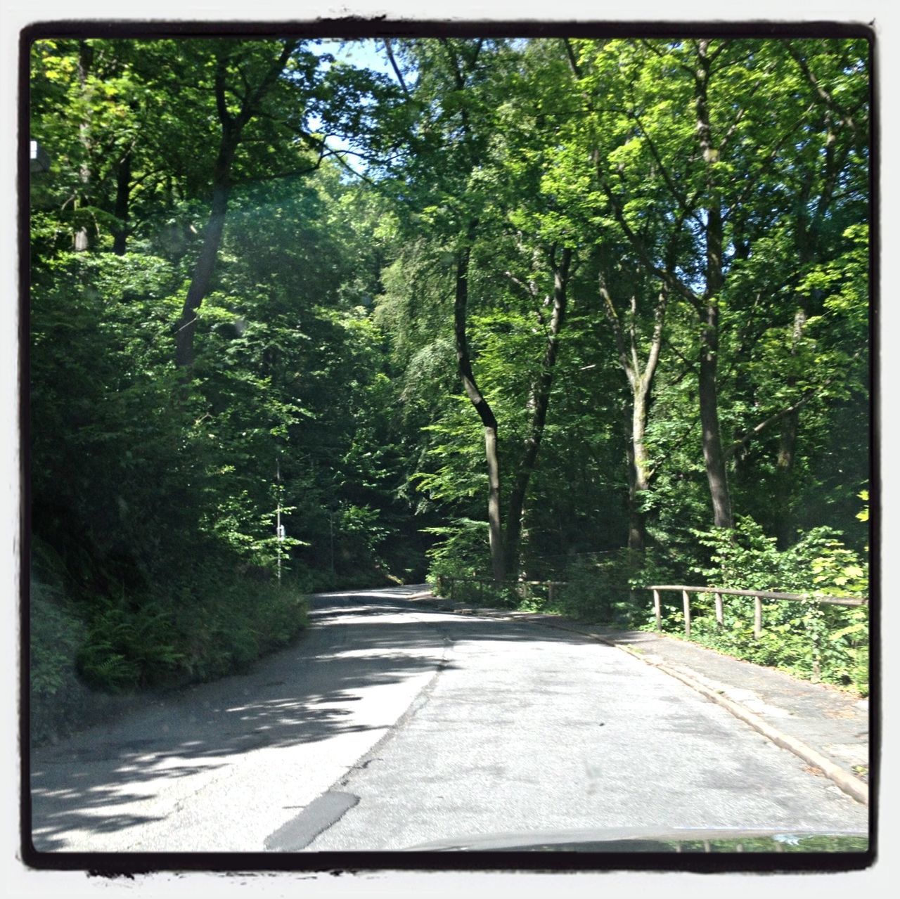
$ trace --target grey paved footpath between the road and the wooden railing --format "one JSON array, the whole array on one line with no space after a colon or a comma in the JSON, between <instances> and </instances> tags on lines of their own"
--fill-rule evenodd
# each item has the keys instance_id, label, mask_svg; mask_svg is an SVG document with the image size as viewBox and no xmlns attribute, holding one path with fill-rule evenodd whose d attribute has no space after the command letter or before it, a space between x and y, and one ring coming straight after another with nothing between
<instances>
[{"instance_id":1,"label":"grey paved footpath between the road and the wooden railing","mask_svg":"<svg viewBox=\"0 0 900 899\"><path fill-rule=\"evenodd\" d=\"M689 683L770 739L797 752L860 802L869 795L869 700L797 679L784 671L733 659L678 637L648 631L617 631L562 616L464 606L422 597L455 611L527 620L586 634L631 652Z\"/></svg>"}]
</instances>

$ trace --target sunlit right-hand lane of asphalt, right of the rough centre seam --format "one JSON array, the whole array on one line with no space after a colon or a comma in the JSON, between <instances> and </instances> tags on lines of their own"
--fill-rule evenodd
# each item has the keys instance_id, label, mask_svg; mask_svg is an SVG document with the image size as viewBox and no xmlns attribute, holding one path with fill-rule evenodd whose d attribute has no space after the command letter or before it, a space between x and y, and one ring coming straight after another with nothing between
<instances>
[{"instance_id":1,"label":"sunlit right-hand lane of asphalt, right of the rough centre seam","mask_svg":"<svg viewBox=\"0 0 900 899\"><path fill-rule=\"evenodd\" d=\"M864 805L680 681L582 634L496 615L446 619L446 670L371 764L334 785L358 803L309 850L629 827L866 829Z\"/></svg>"}]
</instances>

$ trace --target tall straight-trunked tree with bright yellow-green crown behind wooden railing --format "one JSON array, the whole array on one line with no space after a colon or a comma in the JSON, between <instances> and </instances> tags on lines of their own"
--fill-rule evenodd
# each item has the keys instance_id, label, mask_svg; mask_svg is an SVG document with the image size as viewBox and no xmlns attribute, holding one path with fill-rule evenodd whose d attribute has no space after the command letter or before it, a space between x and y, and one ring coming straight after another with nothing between
<instances>
[{"instance_id":1,"label":"tall straight-trunked tree with bright yellow-green crown behind wooden railing","mask_svg":"<svg viewBox=\"0 0 900 899\"><path fill-rule=\"evenodd\" d=\"M748 301L730 290L729 278L778 223L771 195L785 191L783 179L808 172L808 145L797 134L808 130L813 111L797 94L792 46L687 40L572 47L582 103L595 133L606 137L595 144L595 159L607 220L647 273L697 315L701 445L716 526L733 521L719 420L723 316L731 324ZM845 49L835 42L829 52L840 57ZM624 100L610 104L610 96ZM661 242L661 231L672 239ZM669 260L665 246L677 247Z\"/></svg>"}]
</instances>

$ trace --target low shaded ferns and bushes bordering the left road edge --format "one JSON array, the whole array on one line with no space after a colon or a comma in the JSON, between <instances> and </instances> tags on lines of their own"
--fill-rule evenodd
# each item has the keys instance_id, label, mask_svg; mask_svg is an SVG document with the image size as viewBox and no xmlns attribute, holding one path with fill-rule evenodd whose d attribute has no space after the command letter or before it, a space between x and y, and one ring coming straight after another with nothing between
<instances>
[{"instance_id":1,"label":"low shaded ferns and bushes bordering the left road edge","mask_svg":"<svg viewBox=\"0 0 900 899\"><path fill-rule=\"evenodd\" d=\"M120 590L88 602L58 580L45 582L52 572L37 567L43 571L32 573L30 604L35 744L93 723L135 691L244 670L306 625L306 602L293 584L201 571L200 583L161 585L152 594Z\"/></svg>"}]
</instances>

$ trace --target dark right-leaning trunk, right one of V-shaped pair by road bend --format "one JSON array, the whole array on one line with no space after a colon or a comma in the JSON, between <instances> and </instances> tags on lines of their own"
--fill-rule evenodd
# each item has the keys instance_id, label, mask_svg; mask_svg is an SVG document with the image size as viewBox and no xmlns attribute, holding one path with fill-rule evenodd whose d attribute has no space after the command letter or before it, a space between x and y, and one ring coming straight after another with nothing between
<instances>
[{"instance_id":1,"label":"dark right-leaning trunk, right one of V-shaped pair by road bend","mask_svg":"<svg viewBox=\"0 0 900 899\"><path fill-rule=\"evenodd\" d=\"M554 252L555 256L555 252ZM532 385L528 406L531 409L531 421L525 438L525 452L518 468L518 474L509 494L506 529L506 571L518 576L519 550L522 537L522 517L528 484L535 471L537 453L541 448L544 426L547 420L547 407L550 403L550 391L554 384L554 366L559 353L559 336L563 328L566 310L566 292L569 285L569 273L572 265L572 250L563 249L560 264L552 263L554 268L554 311L550 319L547 333L547 346L541 373Z\"/></svg>"}]
</instances>

